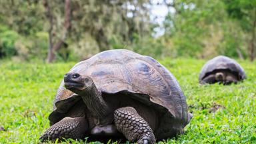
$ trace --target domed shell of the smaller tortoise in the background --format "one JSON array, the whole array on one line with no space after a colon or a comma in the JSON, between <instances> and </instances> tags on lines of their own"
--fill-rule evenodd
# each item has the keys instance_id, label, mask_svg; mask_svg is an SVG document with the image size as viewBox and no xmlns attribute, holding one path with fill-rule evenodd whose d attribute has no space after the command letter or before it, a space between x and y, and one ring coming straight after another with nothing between
<instances>
[{"instance_id":1,"label":"domed shell of the smaller tortoise in the background","mask_svg":"<svg viewBox=\"0 0 256 144\"><path fill-rule=\"evenodd\" d=\"M203 65L201 72L199 74L199 81L202 81L205 76L207 76L209 73L212 73L215 70L229 70L235 75L237 75L238 80L241 81L246 78L245 71L243 70L243 67L237 63L234 59L231 59L229 57L219 55L217 57L214 57L213 59L210 59Z\"/></svg>"}]
</instances>

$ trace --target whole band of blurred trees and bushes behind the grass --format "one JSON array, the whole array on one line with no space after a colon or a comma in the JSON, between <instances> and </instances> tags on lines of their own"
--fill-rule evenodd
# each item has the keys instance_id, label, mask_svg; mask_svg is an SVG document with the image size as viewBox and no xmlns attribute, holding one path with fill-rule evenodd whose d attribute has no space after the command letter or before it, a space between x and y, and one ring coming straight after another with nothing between
<instances>
[{"instance_id":1,"label":"whole band of blurred trees and bushes behind the grass","mask_svg":"<svg viewBox=\"0 0 256 144\"><path fill-rule=\"evenodd\" d=\"M0 0L0 59L77 61L130 49L253 61L255 27L256 0Z\"/></svg>"}]
</instances>

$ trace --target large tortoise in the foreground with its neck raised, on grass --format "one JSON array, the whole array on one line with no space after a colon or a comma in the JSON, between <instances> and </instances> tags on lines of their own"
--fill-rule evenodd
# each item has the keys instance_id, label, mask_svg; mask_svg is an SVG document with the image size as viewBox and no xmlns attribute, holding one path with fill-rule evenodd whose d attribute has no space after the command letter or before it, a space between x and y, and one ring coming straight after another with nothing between
<instances>
[{"instance_id":1,"label":"large tortoise in the foreground with its neck raised, on grass","mask_svg":"<svg viewBox=\"0 0 256 144\"><path fill-rule=\"evenodd\" d=\"M77 63L64 76L53 107L43 141L123 135L155 143L182 133L191 119L175 77L155 59L124 49Z\"/></svg>"}]
</instances>

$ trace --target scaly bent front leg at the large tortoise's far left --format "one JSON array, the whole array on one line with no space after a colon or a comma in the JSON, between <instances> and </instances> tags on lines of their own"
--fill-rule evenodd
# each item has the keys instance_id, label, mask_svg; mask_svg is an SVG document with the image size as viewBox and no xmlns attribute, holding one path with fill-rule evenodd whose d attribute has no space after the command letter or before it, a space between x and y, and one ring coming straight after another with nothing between
<instances>
[{"instance_id":1,"label":"scaly bent front leg at the large tortoise's far left","mask_svg":"<svg viewBox=\"0 0 256 144\"><path fill-rule=\"evenodd\" d=\"M57 138L83 139L87 129L88 123L85 117L64 117L61 121L49 127L39 139L41 141Z\"/></svg>"}]
</instances>

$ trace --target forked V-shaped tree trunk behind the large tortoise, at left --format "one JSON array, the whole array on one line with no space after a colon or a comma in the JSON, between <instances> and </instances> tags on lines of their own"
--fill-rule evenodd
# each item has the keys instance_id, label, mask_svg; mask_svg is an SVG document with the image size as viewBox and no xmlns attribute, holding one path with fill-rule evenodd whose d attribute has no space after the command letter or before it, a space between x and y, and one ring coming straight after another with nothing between
<instances>
[{"instance_id":1,"label":"forked V-shaped tree trunk behind the large tortoise, at left","mask_svg":"<svg viewBox=\"0 0 256 144\"><path fill-rule=\"evenodd\" d=\"M49 1L44 1L45 8L47 9L47 17L49 19L50 28L49 28L49 48L48 48L48 55L47 55L47 62L51 63L55 59L55 53L61 48L61 46L65 43L65 39L67 37L67 33L71 27L71 7L70 7L70 0L65 0L65 21L64 21L64 29L63 29L63 36L61 39L53 45L53 13L51 12L51 7L49 5Z\"/></svg>"}]
</instances>

